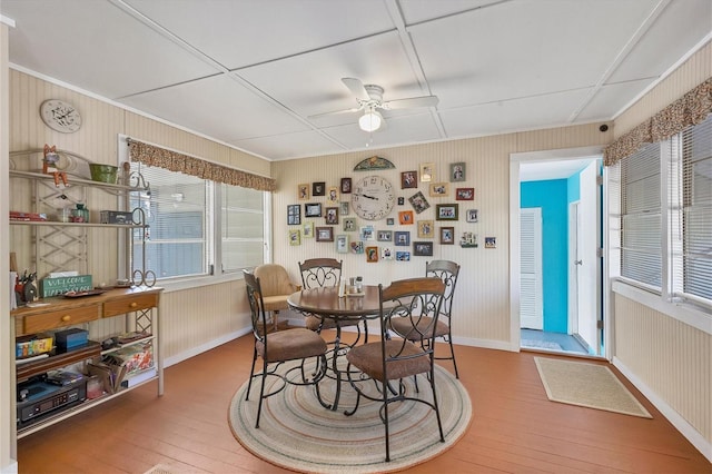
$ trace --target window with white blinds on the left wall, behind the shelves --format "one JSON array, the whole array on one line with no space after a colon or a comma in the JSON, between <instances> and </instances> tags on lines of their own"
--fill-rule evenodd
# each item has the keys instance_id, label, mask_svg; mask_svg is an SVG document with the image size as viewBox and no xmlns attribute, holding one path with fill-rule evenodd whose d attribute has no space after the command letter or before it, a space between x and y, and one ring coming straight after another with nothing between
<instances>
[{"instance_id":1,"label":"window with white blinds on the left wall, behind the shelves","mask_svg":"<svg viewBox=\"0 0 712 474\"><path fill-rule=\"evenodd\" d=\"M149 227L134 234L134 269L157 279L239 271L264 261L265 192L131 164L150 184L134 196ZM219 209L216 213L214 209ZM144 240L144 235L146 240ZM217 236L217 237L216 237Z\"/></svg>"}]
</instances>

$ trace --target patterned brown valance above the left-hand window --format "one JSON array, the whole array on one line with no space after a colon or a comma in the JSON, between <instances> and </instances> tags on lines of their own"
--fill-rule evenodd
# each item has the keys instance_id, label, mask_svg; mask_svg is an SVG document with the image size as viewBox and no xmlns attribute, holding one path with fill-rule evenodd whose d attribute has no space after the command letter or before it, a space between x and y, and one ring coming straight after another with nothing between
<instances>
[{"instance_id":1,"label":"patterned brown valance above the left-hand window","mask_svg":"<svg viewBox=\"0 0 712 474\"><path fill-rule=\"evenodd\" d=\"M215 182L257 189L258 191L274 191L277 189L277 181L273 178L228 168L227 166L144 144L132 138L128 138L127 142L129 145L131 161L157 166L170 171L209 179Z\"/></svg>"}]
</instances>

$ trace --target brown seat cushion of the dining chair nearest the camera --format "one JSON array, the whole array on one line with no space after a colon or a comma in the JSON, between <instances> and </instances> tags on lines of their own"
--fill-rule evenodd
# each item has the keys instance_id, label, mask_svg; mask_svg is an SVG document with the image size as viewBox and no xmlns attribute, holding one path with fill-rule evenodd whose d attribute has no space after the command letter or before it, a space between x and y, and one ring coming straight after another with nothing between
<instances>
[{"instance_id":1,"label":"brown seat cushion of the dining chair nearest the camera","mask_svg":"<svg viewBox=\"0 0 712 474\"><path fill-rule=\"evenodd\" d=\"M400 350L404 345L400 340L386 340L386 354L393 355ZM368 343L356 346L346 353L346 359L364 374L376 381L384 381L383 356L380 343ZM423 349L409 340L405 342L402 355L424 354ZM423 374L431 371L431 358L427 355L408 359L388 362L388 379L409 377L415 374Z\"/></svg>"}]
</instances>

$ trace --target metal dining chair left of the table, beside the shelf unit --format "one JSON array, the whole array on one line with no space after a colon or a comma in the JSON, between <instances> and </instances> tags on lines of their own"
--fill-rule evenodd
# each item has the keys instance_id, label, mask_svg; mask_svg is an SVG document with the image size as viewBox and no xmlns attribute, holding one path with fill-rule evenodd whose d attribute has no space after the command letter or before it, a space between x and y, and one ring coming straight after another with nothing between
<instances>
[{"instance_id":1,"label":"metal dining chair left of the table, beside the shelf unit","mask_svg":"<svg viewBox=\"0 0 712 474\"><path fill-rule=\"evenodd\" d=\"M253 379L260 377L259 404L257 406L257 419L255 428L259 428L259 417L263 411L263 402L265 398L281 392L287 384L293 385L314 385L319 396L319 382L326 374L326 342L313 330L296 327L279 332L267 330L267 316L265 300L263 298L260 280L257 276L243 270L245 275L245 288L247 290L247 299L251 313L253 335L255 337L255 346L253 350L253 366L250 369L249 383L245 393L245 401L249 399ZM255 365L257 358L263 361L263 369L255 374ZM309 358L316 358L316 369L305 371L304 364ZM300 361L286 371L279 372L280 366L290 361ZM298 376L293 376L293 372L300 371ZM307 372L309 374L307 374ZM273 392L265 393L265 383L268 376L280 377L284 384Z\"/></svg>"}]
</instances>

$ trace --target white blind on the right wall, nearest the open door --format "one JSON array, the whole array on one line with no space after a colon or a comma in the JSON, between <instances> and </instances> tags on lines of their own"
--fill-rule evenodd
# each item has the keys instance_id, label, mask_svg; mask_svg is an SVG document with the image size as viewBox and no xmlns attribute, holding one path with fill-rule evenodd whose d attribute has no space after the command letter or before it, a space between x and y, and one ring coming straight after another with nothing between
<instances>
[{"instance_id":1,"label":"white blind on the right wall, nearest the open door","mask_svg":"<svg viewBox=\"0 0 712 474\"><path fill-rule=\"evenodd\" d=\"M660 289L662 214L660 144L621 160L621 275Z\"/></svg>"}]
</instances>

